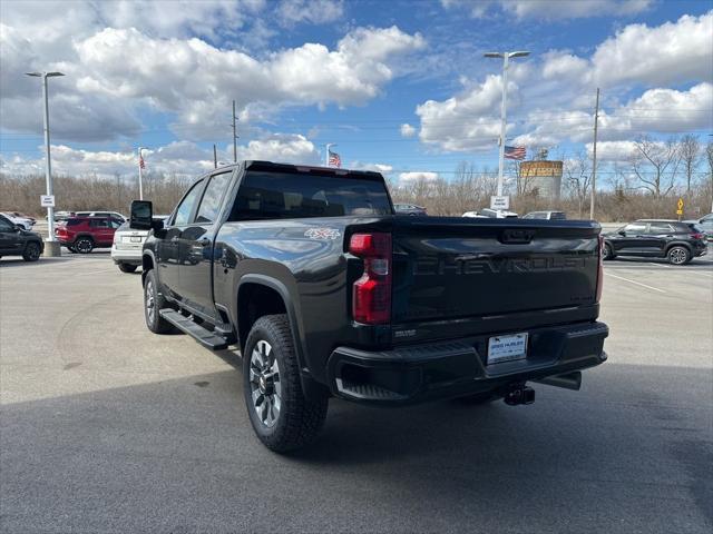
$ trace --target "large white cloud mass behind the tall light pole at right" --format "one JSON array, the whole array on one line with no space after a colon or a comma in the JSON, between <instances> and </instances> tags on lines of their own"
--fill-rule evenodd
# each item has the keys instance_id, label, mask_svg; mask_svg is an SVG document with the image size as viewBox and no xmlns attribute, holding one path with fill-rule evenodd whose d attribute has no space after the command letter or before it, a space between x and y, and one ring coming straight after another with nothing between
<instances>
[{"instance_id":1,"label":"large white cloud mass behind the tall light pole at right","mask_svg":"<svg viewBox=\"0 0 713 534\"><path fill-rule=\"evenodd\" d=\"M603 89L602 140L713 127L713 86L704 81L713 79L711 29L713 11L656 28L631 24L599 44L590 58L550 51L539 60L517 63L515 82L508 85L508 136L528 147L588 141L597 86ZM693 86L662 87L686 82ZM643 92L629 97L632 86L643 86ZM451 98L418 106L421 141L447 151L495 150L500 91L500 77L491 75ZM627 103L621 103L624 98Z\"/></svg>"}]
</instances>

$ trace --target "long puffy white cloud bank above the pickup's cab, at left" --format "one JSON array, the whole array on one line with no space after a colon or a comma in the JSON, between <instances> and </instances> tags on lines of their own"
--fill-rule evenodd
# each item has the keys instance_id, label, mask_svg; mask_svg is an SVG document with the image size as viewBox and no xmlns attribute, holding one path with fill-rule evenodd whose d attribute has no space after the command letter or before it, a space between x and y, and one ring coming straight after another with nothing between
<instances>
[{"instance_id":1,"label":"long puffy white cloud bank above the pickup's cab, at left","mask_svg":"<svg viewBox=\"0 0 713 534\"><path fill-rule=\"evenodd\" d=\"M30 85L23 72L48 66L40 62L41 55L23 33L2 28L3 122L7 110L39 109L37 83ZM58 100L51 109L60 115L84 112L84 122L96 119L104 126L99 139L136 135L138 106L176 113L179 135L212 139L226 132L225 117L233 98L242 123L270 117L285 106L363 105L398 76L394 65L399 56L423 46L418 33L411 36L397 27L356 28L333 50L305 43L258 60L197 38L160 39L134 28L107 28L77 39L75 57L50 63L67 73L55 89L61 88L67 99L81 102L80 109L61 108ZM27 95L37 97L21 101ZM37 120L19 112L3 126L37 131ZM53 129L62 138L86 139L79 134L84 130L65 122L57 122Z\"/></svg>"}]
</instances>

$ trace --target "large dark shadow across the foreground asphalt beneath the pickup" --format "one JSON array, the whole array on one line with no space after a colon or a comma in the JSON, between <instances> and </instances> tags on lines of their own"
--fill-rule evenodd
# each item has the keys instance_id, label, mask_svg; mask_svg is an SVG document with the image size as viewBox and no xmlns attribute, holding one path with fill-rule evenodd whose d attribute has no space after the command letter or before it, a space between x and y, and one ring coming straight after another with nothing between
<instances>
[{"instance_id":1,"label":"large dark shadow across the foreground asphalt beneath the pickup","mask_svg":"<svg viewBox=\"0 0 713 534\"><path fill-rule=\"evenodd\" d=\"M228 369L6 397L6 532L705 532L713 521L701 369L607 364L583 392L536 386L520 407L333 400L319 441L290 456L254 437L241 384Z\"/></svg>"}]
</instances>

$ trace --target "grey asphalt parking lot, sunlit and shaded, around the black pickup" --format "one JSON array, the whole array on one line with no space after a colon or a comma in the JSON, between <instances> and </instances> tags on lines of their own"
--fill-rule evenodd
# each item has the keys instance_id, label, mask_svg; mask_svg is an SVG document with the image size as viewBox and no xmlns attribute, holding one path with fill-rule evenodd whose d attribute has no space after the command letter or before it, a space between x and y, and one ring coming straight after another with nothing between
<instances>
[{"instance_id":1,"label":"grey asphalt parking lot, sunlit and shaded, around the black pickup","mask_svg":"<svg viewBox=\"0 0 713 534\"><path fill-rule=\"evenodd\" d=\"M580 392L333 400L285 457L253 436L236 356L146 329L138 273L4 258L0 530L709 533L712 260L606 264L609 360Z\"/></svg>"}]
</instances>

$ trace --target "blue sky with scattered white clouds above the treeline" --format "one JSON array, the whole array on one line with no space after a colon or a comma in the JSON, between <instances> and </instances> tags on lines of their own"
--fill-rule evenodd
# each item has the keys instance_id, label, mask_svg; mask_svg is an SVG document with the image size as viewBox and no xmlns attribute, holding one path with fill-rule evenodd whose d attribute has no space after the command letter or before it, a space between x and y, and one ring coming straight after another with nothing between
<instances>
[{"instance_id":1,"label":"blue sky with scattered white clouds above the treeline","mask_svg":"<svg viewBox=\"0 0 713 534\"><path fill-rule=\"evenodd\" d=\"M500 63L529 50L508 83L509 144L570 157L590 149L602 87L602 157L641 135L713 129L713 13L707 1L205 0L0 4L0 166L42 168L50 80L58 172L198 174L240 157L342 161L394 178L497 166ZM406 126L404 126L406 125Z\"/></svg>"}]
</instances>

